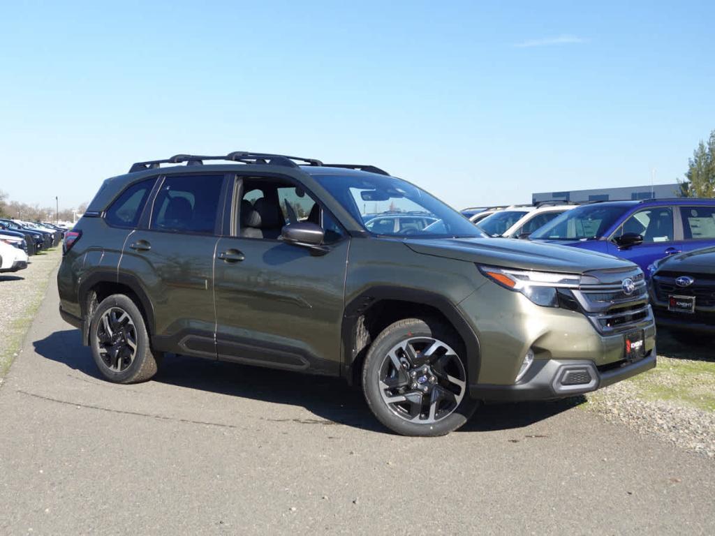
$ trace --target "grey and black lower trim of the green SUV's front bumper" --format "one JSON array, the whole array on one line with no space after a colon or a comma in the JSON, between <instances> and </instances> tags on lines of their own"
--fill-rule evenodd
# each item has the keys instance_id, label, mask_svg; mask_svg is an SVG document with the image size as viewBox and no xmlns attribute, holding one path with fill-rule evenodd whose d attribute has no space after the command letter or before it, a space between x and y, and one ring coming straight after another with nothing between
<instances>
[{"instance_id":1,"label":"grey and black lower trim of the green SUV's front bumper","mask_svg":"<svg viewBox=\"0 0 715 536\"><path fill-rule=\"evenodd\" d=\"M601 387L620 382L656 367L656 349L635 362L623 361L611 367L596 367L588 360L548 359L534 362L527 382L513 385L470 385L470 396L475 399L495 402L518 402L523 400L548 400L573 397L576 394L595 391ZM586 376L583 376L586 374ZM588 382L572 384L574 379Z\"/></svg>"}]
</instances>

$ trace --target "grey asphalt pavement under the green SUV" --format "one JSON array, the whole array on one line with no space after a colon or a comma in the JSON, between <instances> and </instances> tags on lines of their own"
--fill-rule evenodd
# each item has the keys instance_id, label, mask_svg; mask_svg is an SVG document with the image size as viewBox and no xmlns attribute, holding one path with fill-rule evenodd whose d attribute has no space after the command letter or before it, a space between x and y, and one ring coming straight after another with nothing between
<instances>
[{"instance_id":1,"label":"grey asphalt pavement under the green SUV","mask_svg":"<svg viewBox=\"0 0 715 536\"><path fill-rule=\"evenodd\" d=\"M0 387L0 534L714 534L715 463L579 400L391 434L340 379L168 356L104 382L56 284Z\"/></svg>"}]
</instances>

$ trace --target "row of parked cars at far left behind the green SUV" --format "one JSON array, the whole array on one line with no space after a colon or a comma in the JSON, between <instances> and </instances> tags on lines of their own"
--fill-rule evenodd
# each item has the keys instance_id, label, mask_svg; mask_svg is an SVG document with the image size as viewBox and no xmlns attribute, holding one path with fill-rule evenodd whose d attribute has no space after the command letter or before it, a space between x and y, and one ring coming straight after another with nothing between
<instances>
[{"instance_id":1,"label":"row of parked cars at far left behind the green SUV","mask_svg":"<svg viewBox=\"0 0 715 536\"><path fill-rule=\"evenodd\" d=\"M30 255L56 247L66 231L63 225L0 219L0 272L25 269Z\"/></svg>"}]
</instances>

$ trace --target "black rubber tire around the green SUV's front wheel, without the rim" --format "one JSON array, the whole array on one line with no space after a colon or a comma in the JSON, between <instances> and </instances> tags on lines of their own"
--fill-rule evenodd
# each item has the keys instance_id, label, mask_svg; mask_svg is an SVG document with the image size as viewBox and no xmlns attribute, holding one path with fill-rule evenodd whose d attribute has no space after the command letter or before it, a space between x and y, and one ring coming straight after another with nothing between
<instances>
[{"instance_id":1,"label":"black rubber tire around the green SUV's front wheel, without the rim","mask_svg":"<svg viewBox=\"0 0 715 536\"><path fill-rule=\"evenodd\" d=\"M363 392L370 410L386 427L401 435L440 436L448 434L465 424L478 403L466 392L460 405L451 415L438 422L416 424L408 422L390 410L380 394L380 367L383 359L395 344L413 337L433 337L448 344L457 353L465 372L468 373L464 345L452 329L430 319L408 319L395 322L383 330L370 346L363 366ZM467 387L468 389L468 387Z\"/></svg>"}]
</instances>

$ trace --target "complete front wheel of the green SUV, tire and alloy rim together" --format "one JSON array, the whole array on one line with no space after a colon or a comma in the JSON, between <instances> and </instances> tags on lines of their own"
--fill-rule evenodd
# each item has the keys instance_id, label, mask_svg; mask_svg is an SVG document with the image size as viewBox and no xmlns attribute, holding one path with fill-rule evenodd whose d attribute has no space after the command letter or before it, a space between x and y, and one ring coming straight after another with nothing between
<instances>
[{"instance_id":1,"label":"complete front wheel of the green SUV, tire and alloy rim together","mask_svg":"<svg viewBox=\"0 0 715 536\"><path fill-rule=\"evenodd\" d=\"M410 318L386 327L365 356L362 379L370 410L400 435L446 435L478 406L468 393L464 345L436 319Z\"/></svg>"}]
</instances>

